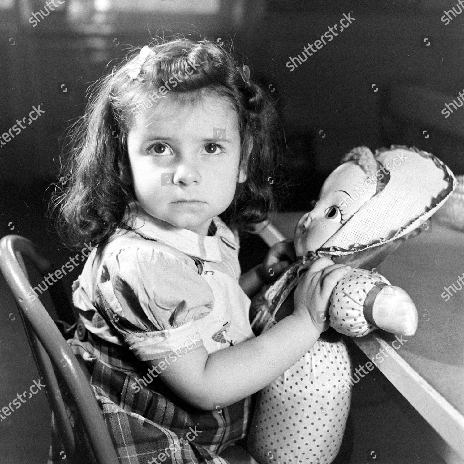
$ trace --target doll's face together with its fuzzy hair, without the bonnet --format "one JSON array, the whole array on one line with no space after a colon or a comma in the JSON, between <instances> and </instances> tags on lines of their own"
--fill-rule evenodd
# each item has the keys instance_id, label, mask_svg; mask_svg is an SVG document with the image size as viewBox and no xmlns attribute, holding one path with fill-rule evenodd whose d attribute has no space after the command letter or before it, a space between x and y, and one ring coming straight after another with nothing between
<instances>
[{"instance_id":1,"label":"doll's face together with its fuzzy hair, without the bonnet","mask_svg":"<svg viewBox=\"0 0 464 464\"><path fill-rule=\"evenodd\" d=\"M385 187L388 179L388 171L367 147L357 147L347 153L342 164L325 180L312 209L296 225L296 256L320 248Z\"/></svg>"}]
</instances>

